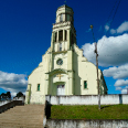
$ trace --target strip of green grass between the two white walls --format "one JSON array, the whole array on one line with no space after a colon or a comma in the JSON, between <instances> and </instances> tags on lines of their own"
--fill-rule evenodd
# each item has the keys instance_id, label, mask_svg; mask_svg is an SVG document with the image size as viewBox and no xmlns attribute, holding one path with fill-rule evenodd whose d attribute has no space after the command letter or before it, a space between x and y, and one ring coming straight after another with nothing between
<instances>
[{"instance_id":1,"label":"strip of green grass between the two white walls","mask_svg":"<svg viewBox=\"0 0 128 128\"><path fill-rule=\"evenodd\" d=\"M128 119L128 105L51 106L51 119Z\"/></svg>"}]
</instances>

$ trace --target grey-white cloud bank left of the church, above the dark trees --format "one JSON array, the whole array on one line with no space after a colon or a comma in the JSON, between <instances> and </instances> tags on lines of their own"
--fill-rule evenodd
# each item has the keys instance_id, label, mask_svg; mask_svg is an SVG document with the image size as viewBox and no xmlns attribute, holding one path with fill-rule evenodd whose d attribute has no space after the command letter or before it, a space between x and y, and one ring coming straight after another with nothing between
<instances>
[{"instance_id":1,"label":"grey-white cloud bank left of the church, above the dark trees","mask_svg":"<svg viewBox=\"0 0 128 128\"><path fill-rule=\"evenodd\" d=\"M25 94L28 81L24 74L14 74L0 71L0 88L7 92L11 92L11 96L15 96L17 93L22 92Z\"/></svg>"}]
</instances>

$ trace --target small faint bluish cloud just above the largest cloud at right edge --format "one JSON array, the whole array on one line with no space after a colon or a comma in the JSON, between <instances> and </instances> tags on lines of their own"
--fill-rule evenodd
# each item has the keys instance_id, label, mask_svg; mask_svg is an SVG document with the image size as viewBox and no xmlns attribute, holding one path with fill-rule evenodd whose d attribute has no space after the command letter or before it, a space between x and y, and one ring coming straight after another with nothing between
<instances>
[{"instance_id":1,"label":"small faint bluish cloud just above the largest cloud at right edge","mask_svg":"<svg viewBox=\"0 0 128 128\"><path fill-rule=\"evenodd\" d=\"M127 31L128 31L128 21L125 21L124 23L121 23L117 29L110 29L111 34L122 33Z\"/></svg>"}]
</instances>

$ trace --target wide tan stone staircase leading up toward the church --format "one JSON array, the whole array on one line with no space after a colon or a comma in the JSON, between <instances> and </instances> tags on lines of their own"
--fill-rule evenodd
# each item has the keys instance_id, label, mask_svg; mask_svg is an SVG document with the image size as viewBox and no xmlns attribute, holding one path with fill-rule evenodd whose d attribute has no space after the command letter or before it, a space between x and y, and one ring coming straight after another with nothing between
<instances>
[{"instance_id":1,"label":"wide tan stone staircase leading up toward the church","mask_svg":"<svg viewBox=\"0 0 128 128\"><path fill-rule=\"evenodd\" d=\"M15 106L0 114L0 128L44 128L44 105Z\"/></svg>"}]
</instances>

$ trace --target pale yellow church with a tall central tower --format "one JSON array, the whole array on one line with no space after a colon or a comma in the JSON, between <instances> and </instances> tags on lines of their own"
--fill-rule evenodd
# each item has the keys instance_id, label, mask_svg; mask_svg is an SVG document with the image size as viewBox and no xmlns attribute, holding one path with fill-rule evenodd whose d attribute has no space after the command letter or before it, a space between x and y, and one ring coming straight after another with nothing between
<instances>
[{"instance_id":1,"label":"pale yellow church with a tall central tower","mask_svg":"<svg viewBox=\"0 0 128 128\"><path fill-rule=\"evenodd\" d=\"M98 70L100 94L107 94L103 72ZM41 103L45 95L98 95L96 66L77 46L73 9L66 4L56 10L51 46L42 62L28 76L25 104Z\"/></svg>"}]
</instances>

